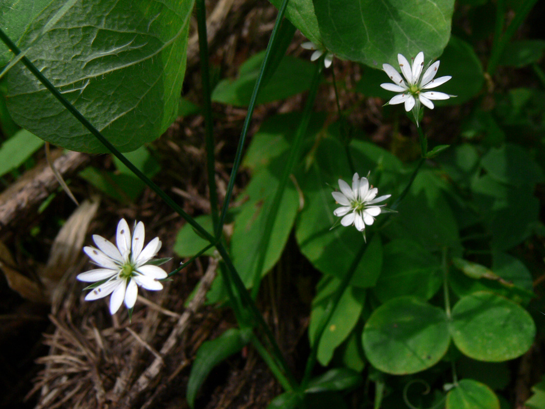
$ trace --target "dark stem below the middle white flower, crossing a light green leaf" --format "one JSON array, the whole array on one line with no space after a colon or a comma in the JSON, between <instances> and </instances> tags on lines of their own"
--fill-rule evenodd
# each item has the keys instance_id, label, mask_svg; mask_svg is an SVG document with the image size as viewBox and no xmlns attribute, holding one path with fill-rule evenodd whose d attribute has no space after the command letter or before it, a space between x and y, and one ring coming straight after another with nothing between
<instances>
[{"instance_id":1,"label":"dark stem below the middle white flower, crossing a light green leaf","mask_svg":"<svg viewBox=\"0 0 545 409\"><path fill-rule=\"evenodd\" d=\"M341 284L338 286L337 291L335 292L335 295L330 300L330 302L328 303L328 306L326 307L324 311L322 321L320 321L318 330L316 331L316 336L314 337L314 342L311 348L310 356L308 357L307 363L305 366L305 374L303 376L303 380L301 381L301 386L303 389L306 388L306 385L312 375L312 370L314 369L314 365L316 365L318 346L320 345L320 340L322 339L322 336L324 335L325 328L327 327L329 320L331 320L331 317L333 316L333 313L335 312L335 309L337 308L337 305L339 301L341 300L342 294L348 288L350 281L352 280L352 277L354 276L356 268L358 267L358 264L361 261L361 257L364 256L366 248L367 248L367 243L362 244L360 250L358 251L358 254L356 254L356 256L354 257L354 260L352 261L352 264L350 264L348 271L344 275L341 281Z\"/></svg>"}]
</instances>

